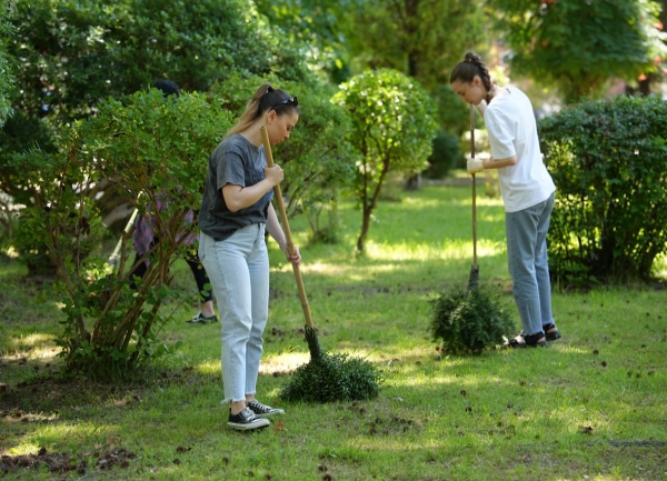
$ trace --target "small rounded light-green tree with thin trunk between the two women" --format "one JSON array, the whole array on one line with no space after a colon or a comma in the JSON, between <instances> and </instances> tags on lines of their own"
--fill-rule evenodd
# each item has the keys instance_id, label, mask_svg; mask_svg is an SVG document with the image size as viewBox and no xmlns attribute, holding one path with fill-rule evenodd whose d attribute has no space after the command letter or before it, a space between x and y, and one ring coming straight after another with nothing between
<instances>
[{"instance_id":1,"label":"small rounded light-green tree with thin trunk between the two women","mask_svg":"<svg viewBox=\"0 0 667 481\"><path fill-rule=\"evenodd\" d=\"M354 77L332 101L349 112L351 143L361 153L355 190L362 211L357 251L362 252L387 174L414 174L427 167L438 127L435 106L418 82L390 69Z\"/></svg>"}]
</instances>

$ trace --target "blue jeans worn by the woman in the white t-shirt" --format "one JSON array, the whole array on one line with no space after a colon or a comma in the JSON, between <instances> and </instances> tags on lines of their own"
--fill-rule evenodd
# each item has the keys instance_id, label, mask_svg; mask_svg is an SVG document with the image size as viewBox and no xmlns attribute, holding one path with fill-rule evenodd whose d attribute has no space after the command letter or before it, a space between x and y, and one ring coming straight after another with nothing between
<instances>
[{"instance_id":1,"label":"blue jeans worn by the woman in the white t-shirt","mask_svg":"<svg viewBox=\"0 0 667 481\"><path fill-rule=\"evenodd\" d=\"M547 231L554 199L551 193L544 202L505 213L507 262L525 334L544 332L542 324L554 322L547 262Z\"/></svg>"}]
</instances>

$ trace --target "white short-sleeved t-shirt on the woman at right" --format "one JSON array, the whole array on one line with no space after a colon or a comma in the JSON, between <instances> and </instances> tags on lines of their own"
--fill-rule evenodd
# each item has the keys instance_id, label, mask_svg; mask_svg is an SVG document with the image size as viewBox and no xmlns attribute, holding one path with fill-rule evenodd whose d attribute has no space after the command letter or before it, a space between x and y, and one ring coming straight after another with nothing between
<instances>
[{"instance_id":1,"label":"white short-sleeved t-shirt on the woman at right","mask_svg":"<svg viewBox=\"0 0 667 481\"><path fill-rule=\"evenodd\" d=\"M506 212L517 212L542 202L556 190L542 162L537 124L530 100L516 87L496 97L484 112L491 157L517 157L516 166L498 169L500 193Z\"/></svg>"}]
</instances>

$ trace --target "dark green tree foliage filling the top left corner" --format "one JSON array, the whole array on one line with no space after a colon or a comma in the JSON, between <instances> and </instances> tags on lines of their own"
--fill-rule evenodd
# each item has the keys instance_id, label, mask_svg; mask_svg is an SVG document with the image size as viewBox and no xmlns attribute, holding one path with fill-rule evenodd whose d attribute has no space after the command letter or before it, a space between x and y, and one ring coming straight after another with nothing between
<instances>
[{"instance_id":1,"label":"dark green tree foliage filling the top left corner","mask_svg":"<svg viewBox=\"0 0 667 481\"><path fill-rule=\"evenodd\" d=\"M60 126L96 114L104 98L165 78L183 91L206 91L235 71L285 79L308 73L297 47L276 42L273 29L242 0L12 4L8 53L17 64L17 114L0 136L0 191L17 203L31 203L32 192L10 168L11 156L49 151ZM111 210L117 198L107 193L99 203Z\"/></svg>"}]
</instances>

